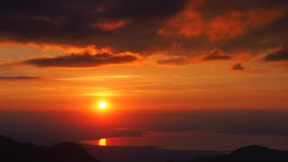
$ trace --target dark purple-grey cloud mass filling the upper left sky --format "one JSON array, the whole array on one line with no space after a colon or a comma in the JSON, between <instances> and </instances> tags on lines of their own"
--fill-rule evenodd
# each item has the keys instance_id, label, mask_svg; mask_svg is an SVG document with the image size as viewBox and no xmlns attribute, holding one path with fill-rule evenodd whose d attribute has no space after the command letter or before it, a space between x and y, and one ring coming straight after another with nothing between
<instances>
[{"instance_id":1,"label":"dark purple-grey cloud mass filling the upper left sky","mask_svg":"<svg viewBox=\"0 0 288 162\"><path fill-rule=\"evenodd\" d=\"M147 49L159 25L180 12L186 0L4 0L0 40L96 44L121 51ZM128 21L105 30L97 23ZM135 39L139 40L135 41Z\"/></svg>"}]
</instances>

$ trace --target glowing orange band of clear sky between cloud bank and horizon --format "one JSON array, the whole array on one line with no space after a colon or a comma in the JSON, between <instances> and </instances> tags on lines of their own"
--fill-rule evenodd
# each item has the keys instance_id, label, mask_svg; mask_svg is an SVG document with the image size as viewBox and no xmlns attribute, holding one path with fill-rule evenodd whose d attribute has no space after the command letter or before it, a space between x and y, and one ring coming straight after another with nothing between
<instances>
[{"instance_id":1,"label":"glowing orange band of clear sky between cloud bank and horizon","mask_svg":"<svg viewBox=\"0 0 288 162\"><path fill-rule=\"evenodd\" d=\"M17 50L23 49L25 53L18 57ZM63 52L19 44L6 45L0 50L2 57L12 62ZM285 67L259 60L247 61L246 69L240 71L229 69L233 61L227 60L161 66L153 62L155 57L123 65L85 68L6 65L0 69L4 76L37 78L1 79L0 107L83 110L102 99L124 110L279 109L288 105Z\"/></svg>"}]
</instances>

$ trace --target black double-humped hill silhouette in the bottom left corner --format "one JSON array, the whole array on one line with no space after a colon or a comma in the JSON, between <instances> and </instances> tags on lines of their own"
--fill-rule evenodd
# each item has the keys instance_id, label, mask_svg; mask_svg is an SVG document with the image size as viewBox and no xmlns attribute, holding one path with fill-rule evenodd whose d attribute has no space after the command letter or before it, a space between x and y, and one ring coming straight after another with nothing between
<instances>
[{"instance_id":1,"label":"black double-humped hill silhouette in the bottom left corner","mask_svg":"<svg viewBox=\"0 0 288 162\"><path fill-rule=\"evenodd\" d=\"M99 162L75 143L46 148L0 136L1 162Z\"/></svg>"}]
</instances>

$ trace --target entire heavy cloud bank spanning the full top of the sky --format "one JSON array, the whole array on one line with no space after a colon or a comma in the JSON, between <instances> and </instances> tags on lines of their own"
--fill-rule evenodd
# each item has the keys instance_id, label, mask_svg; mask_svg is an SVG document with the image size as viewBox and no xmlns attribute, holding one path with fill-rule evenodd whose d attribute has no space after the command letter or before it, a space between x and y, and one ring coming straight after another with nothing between
<instances>
[{"instance_id":1,"label":"entire heavy cloud bank spanning the full top of the sky","mask_svg":"<svg viewBox=\"0 0 288 162\"><path fill-rule=\"evenodd\" d=\"M181 47L175 56L188 58L211 49L257 55L286 43L288 1L196 1L3 0L0 41L92 44L143 54L167 50L176 42ZM166 35L158 34L161 29ZM229 56L206 58L216 59Z\"/></svg>"}]
</instances>

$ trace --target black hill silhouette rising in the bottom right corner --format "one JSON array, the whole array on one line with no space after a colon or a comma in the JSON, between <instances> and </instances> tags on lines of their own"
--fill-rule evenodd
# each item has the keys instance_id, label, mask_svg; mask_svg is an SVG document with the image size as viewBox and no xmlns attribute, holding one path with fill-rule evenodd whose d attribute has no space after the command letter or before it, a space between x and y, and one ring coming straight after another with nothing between
<instances>
[{"instance_id":1,"label":"black hill silhouette rising in the bottom right corner","mask_svg":"<svg viewBox=\"0 0 288 162\"><path fill-rule=\"evenodd\" d=\"M252 145L238 148L228 154L214 157L201 157L191 162L287 162L288 151L276 150L262 146Z\"/></svg>"}]
</instances>

